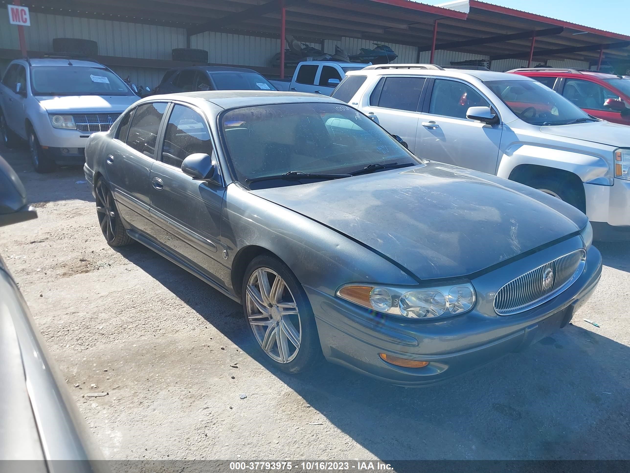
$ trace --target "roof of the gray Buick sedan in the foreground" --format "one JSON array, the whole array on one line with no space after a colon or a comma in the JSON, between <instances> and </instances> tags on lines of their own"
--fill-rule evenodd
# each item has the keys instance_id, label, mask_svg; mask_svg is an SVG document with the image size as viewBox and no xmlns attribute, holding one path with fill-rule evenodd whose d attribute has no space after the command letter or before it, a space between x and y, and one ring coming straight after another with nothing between
<instances>
[{"instance_id":1,"label":"roof of the gray Buick sedan in the foreground","mask_svg":"<svg viewBox=\"0 0 630 473\"><path fill-rule=\"evenodd\" d=\"M257 90L209 90L198 92L171 93L166 95L151 95L147 102L153 100L183 100L195 103L206 100L221 108L249 107L253 105L270 105L287 102L328 102L343 103L328 95L318 95L304 92L257 91Z\"/></svg>"}]
</instances>

